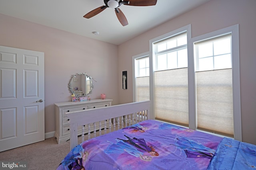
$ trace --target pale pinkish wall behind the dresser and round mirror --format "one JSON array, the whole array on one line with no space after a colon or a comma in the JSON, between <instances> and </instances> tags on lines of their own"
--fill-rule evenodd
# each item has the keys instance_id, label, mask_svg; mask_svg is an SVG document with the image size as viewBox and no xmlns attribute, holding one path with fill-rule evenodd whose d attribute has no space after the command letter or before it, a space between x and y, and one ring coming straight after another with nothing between
<instances>
[{"instance_id":1,"label":"pale pinkish wall behind the dresser and round mirror","mask_svg":"<svg viewBox=\"0 0 256 170\"><path fill-rule=\"evenodd\" d=\"M71 75L94 77L90 98L105 93L118 104L118 47L0 14L0 45L44 52L45 132L55 131L54 103L71 101Z\"/></svg>"}]
</instances>

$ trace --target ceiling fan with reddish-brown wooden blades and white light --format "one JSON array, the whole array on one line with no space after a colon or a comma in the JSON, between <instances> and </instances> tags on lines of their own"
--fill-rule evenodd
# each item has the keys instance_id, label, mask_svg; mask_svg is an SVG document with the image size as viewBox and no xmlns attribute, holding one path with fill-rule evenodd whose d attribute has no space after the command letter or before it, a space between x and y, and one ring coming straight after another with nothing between
<instances>
[{"instance_id":1,"label":"ceiling fan with reddish-brown wooden blades and white light","mask_svg":"<svg viewBox=\"0 0 256 170\"><path fill-rule=\"evenodd\" d=\"M110 7L115 9L116 16L120 23L125 26L128 25L128 21L124 16L124 13L118 8L122 4L130 6L153 6L156 5L157 0L104 0L105 6L100 6L87 14L84 15L84 18L91 18L96 16L106 8Z\"/></svg>"}]
</instances>

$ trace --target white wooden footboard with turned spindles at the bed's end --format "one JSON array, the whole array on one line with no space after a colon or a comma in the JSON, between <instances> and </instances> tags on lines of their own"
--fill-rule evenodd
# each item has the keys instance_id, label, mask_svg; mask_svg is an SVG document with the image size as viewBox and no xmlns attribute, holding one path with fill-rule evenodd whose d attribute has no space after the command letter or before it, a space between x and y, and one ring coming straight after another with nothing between
<instances>
[{"instance_id":1,"label":"white wooden footboard with turned spindles at the bed's end","mask_svg":"<svg viewBox=\"0 0 256 170\"><path fill-rule=\"evenodd\" d=\"M120 104L109 107L101 107L96 109L87 109L83 111L66 112L70 119L70 150L78 145L78 129L82 127L82 142L84 141L84 134L87 133L88 139L91 137L91 129L93 128L94 137L96 137L96 123L99 122L101 134L104 129L104 134L117 129L130 126L149 119L150 101L134 102L128 104ZM108 121L106 121L108 120ZM103 122L103 125L102 125ZM93 123L93 127L90 124ZM88 129L85 131L85 125Z\"/></svg>"}]
</instances>

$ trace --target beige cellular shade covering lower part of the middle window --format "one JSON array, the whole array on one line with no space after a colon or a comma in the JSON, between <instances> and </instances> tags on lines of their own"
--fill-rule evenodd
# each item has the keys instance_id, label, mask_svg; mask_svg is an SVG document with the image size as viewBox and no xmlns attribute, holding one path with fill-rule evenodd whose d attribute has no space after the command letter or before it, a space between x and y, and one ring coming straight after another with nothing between
<instances>
[{"instance_id":1,"label":"beige cellular shade covering lower part of the middle window","mask_svg":"<svg viewBox=\"0 0 256 170\"><path fill-rule=\"evenodd\" d=\"M154 72L156 119L188 127L188 68Z\"/></svg>"}]
</instances>

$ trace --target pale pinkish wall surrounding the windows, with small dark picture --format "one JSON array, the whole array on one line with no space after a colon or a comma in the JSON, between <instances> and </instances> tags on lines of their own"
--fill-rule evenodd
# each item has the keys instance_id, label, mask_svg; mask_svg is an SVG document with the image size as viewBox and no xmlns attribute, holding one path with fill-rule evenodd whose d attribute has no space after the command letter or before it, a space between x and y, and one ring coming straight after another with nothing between
<instances>
[{"instance_id":1,"label":"pale pinkish wall surrounding the windows, with small dark picture","mask_svg":"<svg viewBox=\"0 0 256 170\"><path fill-rule=\"evenodd\" d=\"M128 89L121 87L120 103L132 102L132 56L149 51L149 40L191 24L192 37L239 24L242 139L256 144L256 0L211 0L118 47L118 73L128 72ZM153 21L152 21L153 22ZM125 96L125 97L124 97Z\"/></svg>"}]
</instances>

